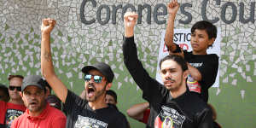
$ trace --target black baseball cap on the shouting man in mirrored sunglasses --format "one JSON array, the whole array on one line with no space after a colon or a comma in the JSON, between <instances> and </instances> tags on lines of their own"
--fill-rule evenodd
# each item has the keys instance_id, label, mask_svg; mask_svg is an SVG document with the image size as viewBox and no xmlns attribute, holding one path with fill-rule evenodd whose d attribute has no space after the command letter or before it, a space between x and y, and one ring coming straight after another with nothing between
<instances>
[{"instance_id":1,"label":"black baseball cap on the shouting man in mirrored sunglasses","mask_svg":"<svg viewBox=\"0 0 256 128\"><path fill-rule=\"evenodd\" d=\"M94 65L83 67L82 72L88 73L91 69L98 70L107 78L109 83L112 83L114 74L113 74L111 67L109 67L108 64L106 64L104 62L99 62Z\"/></svg>"}]
</instances>

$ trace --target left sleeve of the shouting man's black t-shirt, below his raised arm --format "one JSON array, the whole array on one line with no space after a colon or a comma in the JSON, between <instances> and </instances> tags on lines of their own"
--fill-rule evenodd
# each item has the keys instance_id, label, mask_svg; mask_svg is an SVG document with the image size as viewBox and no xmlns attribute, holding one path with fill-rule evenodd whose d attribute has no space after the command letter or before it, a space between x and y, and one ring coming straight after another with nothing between
<instances>
[{"instance_id":1,"label":"left sleeve of the shouting man's black t-shirt, below his raised arm","mask_svg":"<svg viewBox=\"0 0 256 128\"><path fill-rule=\"evenodd\" d=\"M63 104L63 111L66 114L70 114L73 112L73 109L75 109L75 107L77 106L84 108L86 103L86 100L83 100L82 98L74 94L72 91L67 90L67 98L65 103Z\"/></svg>"}]
</instances>

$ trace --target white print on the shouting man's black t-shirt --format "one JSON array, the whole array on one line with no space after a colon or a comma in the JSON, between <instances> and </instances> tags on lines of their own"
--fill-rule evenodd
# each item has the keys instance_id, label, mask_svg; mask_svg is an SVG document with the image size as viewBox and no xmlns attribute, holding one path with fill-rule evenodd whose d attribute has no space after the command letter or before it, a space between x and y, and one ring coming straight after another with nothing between
<instances>
[{"instance_id":1,"label":"white print on the shouting man's black t-shirt","mask_svg":"<svg viewBox=\"0 0 256 128\"><path fill-rule=\"evenodd\" d=\"M74 128L107 128L108 124L97 119L79 115Z\"/></svg>"}]
</instances>

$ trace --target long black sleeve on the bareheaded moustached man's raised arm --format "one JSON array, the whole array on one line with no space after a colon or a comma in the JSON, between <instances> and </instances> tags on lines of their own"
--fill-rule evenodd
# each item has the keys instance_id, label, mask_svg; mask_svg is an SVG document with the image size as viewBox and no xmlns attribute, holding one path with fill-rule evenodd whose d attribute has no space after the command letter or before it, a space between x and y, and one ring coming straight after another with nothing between
<instances>
[{"instance_id":1,"label":"long black sleeve on the bareheaded moustached man's raised arm","mask_svg":"<svg viewBox=\"0 0 256 128\"><path fill-rule=\"evenodd\" d=\"M134 37L124 38L123 55L125 67L139 88L143 90L143 98L149 103L160 102L168 90L155 79L152 79L143 67L143 63L139 61Z\"/></svg>"}]
</instances>

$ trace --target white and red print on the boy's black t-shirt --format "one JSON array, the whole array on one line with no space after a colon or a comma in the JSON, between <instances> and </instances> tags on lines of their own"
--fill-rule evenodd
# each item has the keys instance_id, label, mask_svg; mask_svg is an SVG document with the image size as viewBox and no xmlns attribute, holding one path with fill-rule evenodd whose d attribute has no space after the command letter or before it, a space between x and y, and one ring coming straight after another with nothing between
<instances>
[{"instance_id":1,"label":"white and red print on the boy's black t-shirt","mask_svg":"<svg viewBox=\"0 0 256 128\"><path fill-rule=\"evenodd\" d=\"M200 63L189 63L192 67L198 68L203 65L202 62ZM201 93L201 84L198 83L195 79L192 78L192 76L189 74L187 79L187 84L189 86L190 91L194 91L197 93Z\"/></svg>"}]
</instances>

